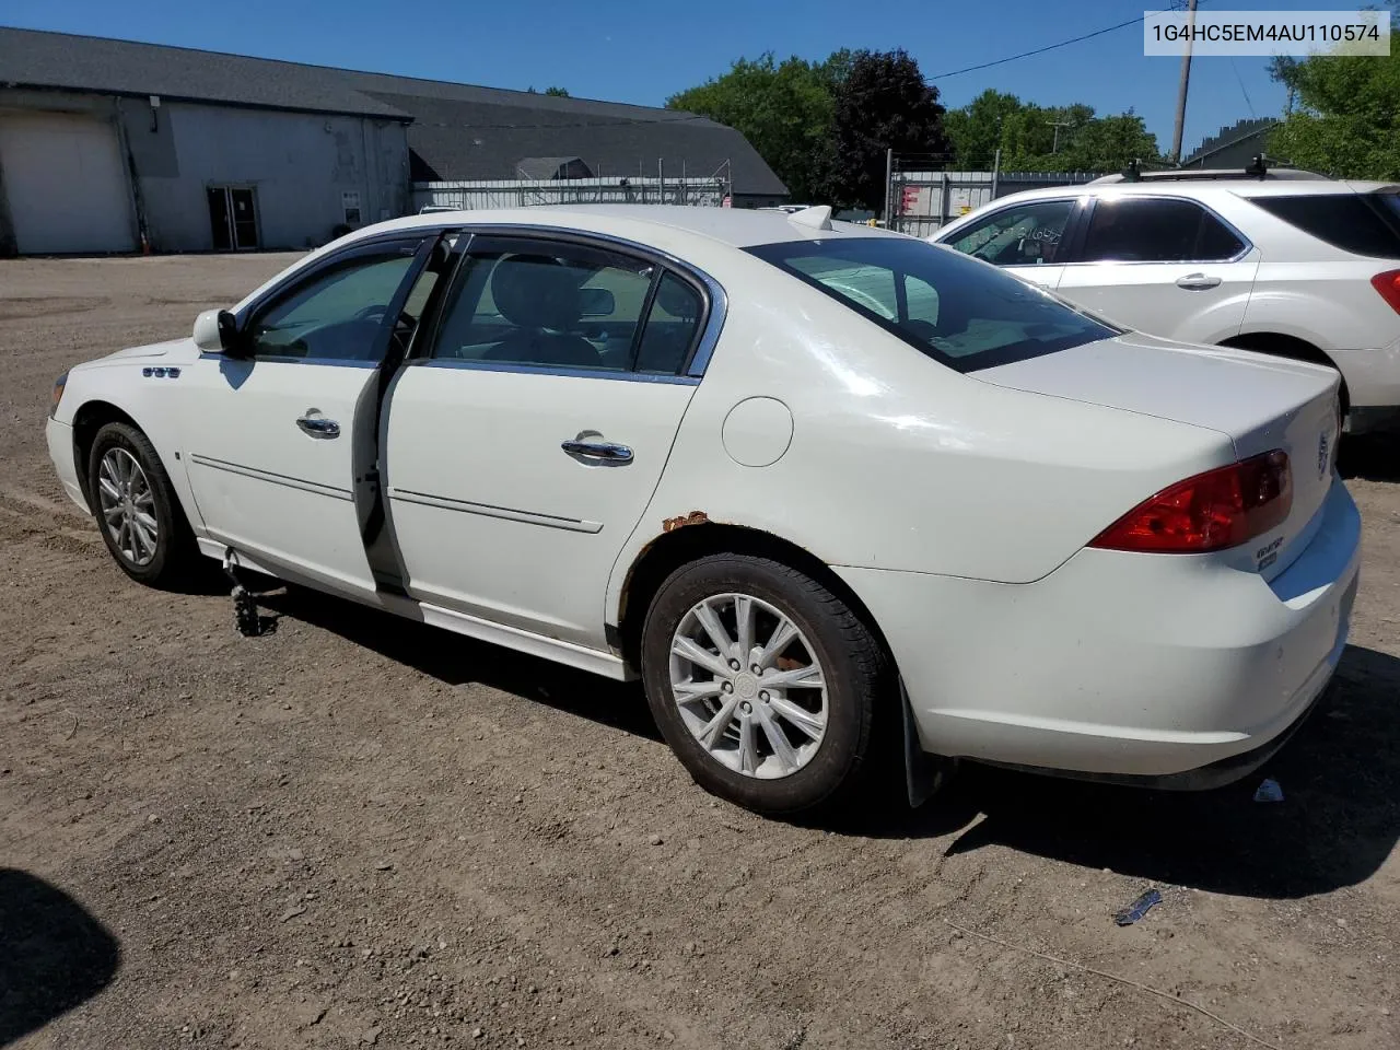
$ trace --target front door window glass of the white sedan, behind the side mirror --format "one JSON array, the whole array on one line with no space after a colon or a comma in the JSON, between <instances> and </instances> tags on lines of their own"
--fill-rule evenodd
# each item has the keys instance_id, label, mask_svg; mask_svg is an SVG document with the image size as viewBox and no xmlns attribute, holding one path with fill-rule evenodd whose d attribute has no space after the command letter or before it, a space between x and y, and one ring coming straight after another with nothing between
<instances>
[{"instance_id":1,"label":"front door window glass of the white sedan, behind the side mirror","mask_svg":"<svg viewBox=\"0 0 1400 1050\"><path fill-rule=\"evenodd\" d=\"M375 360L395 293L413 266L400 248L323 270L259 311L248 326L258 357Z\"/></svg>"}]
</instances>

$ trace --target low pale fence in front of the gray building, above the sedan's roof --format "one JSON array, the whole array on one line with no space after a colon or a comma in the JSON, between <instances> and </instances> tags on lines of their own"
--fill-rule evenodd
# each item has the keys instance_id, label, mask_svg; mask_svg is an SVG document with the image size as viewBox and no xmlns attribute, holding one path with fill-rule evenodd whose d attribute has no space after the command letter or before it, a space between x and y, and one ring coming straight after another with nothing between
<instances>
[{"instance_id":1,"label":"low pale fence in front of the gray building, above the sedan's roof","mask_svg":"<svg viewBox=\"0 0 1400 1050\"><path fill-rule=\"evenodd\" d=\"M533 207L538 204L696 204L720 207L729 195L721 178L490 179L414 182L413 210Z\"/></svg>"}]
</instances>

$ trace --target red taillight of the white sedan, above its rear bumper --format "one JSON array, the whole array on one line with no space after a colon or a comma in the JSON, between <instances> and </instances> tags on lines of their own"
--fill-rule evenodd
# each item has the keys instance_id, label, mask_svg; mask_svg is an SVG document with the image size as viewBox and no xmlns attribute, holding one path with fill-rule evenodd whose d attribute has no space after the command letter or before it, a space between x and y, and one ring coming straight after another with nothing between
<instances>
[{"instance_id":1,"label":"red taillight of the white sedan, above its rear bumper","mask_svg":"<svg viewBox=\"0 0 1400 1050\"><path fill-rule=\"evenodd\" d=\"M1292 505L1288 454L1275 449L1177 482L1124 514L1089 546L1156 554L1224 550L1274 528Z\"/></svg>"}]
</instances>

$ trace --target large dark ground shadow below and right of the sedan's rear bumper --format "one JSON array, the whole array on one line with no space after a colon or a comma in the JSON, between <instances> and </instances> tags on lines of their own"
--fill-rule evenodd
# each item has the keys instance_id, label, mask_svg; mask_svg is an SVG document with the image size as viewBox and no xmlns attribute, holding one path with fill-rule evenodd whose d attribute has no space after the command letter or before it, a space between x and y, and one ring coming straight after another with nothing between
<instances>
[{"instance_id":1,"label":"large dark ground shadow below and right of the sedan's rear bumper","mask_svg":"<svg viewBox=\"0 0 1400 1050\"><path fill-rule=\"evenodd\" d=\"M1144 881L1252 897L1357 885L1400 837L1400 659L1348 647L1336 689L1257 773L1215 791L1148 791L965 764L920 811L853 829L956 833ZM1271 777L1281 802L1256 802Z\"/></svg>"}]
</instances>

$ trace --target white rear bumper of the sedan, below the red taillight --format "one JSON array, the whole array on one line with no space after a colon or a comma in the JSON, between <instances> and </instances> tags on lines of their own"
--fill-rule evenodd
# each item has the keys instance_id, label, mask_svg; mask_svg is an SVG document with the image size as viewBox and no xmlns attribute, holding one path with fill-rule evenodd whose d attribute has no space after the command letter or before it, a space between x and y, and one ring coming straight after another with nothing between
<instances>
[{"instance_id":1,"label":"white rear bumper of the sedan, below the red taillight","mask_svg":"<svg viewBox=\"0 0 1400 1050\"><path fill-rule=\"evenodd\" d=\"M925 750L1096 778L1200 770L1182 784L1204 787L1267 759L1341 658L1361 518L1340 483L1320 512L1273 581L1092 549L1021 585L837 571L890 643Z\"/></svg>"}]
</instances>

